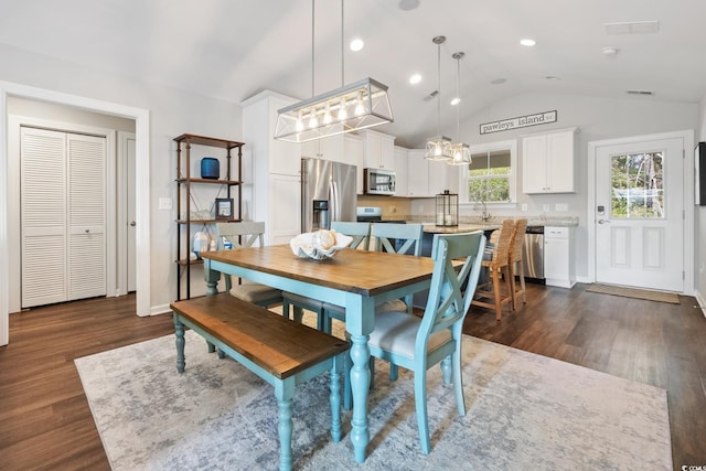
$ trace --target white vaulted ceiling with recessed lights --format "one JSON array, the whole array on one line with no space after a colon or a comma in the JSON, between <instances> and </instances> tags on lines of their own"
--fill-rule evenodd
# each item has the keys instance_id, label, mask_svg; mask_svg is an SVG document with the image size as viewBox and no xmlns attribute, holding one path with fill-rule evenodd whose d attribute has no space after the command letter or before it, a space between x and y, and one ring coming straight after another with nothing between
<instances>
[{"instance_id":1,"label":"white vaulted ceiling with recessed lights","mask_svg":"<svg viewBox=\"0 0 706 471\"><path fill-rule=\"evenodd\" d=\"M373 77L389 86L395 116L378 129L408 147L437 132L438 103L429 97L438 88L436 35L447 36L441 127L451 137L451 54L459 51L461 120L526 93L683 103L706 94L704 0L349 0L343 63L339 0L315 3L313 61L311 0L0 0L0 43L234 103L263 89L303 99ZM657 32L606 29L645 21L659 21ZM347 49L354 36L365 41L356 53ZM523 38L536 45L520 45ZM606 46L617 54L603 54ZM413 73L422 76L417 85L408 83ZM535 111L542 110L528 110Z\"/></svg>"}]
</instances>

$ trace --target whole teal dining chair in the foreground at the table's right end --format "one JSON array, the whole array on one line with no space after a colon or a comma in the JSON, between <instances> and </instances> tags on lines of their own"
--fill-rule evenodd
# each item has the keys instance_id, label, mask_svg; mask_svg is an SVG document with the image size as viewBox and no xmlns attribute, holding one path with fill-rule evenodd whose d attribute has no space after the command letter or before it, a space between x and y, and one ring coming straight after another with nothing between
<instances>
[{"instance_id":1,"label":"whole teal dining chair in the foreground at the table's right end","mask_svg":"<svg viewBox=\"0 0 706 471\"><path fill-rule=\"evenodd\" d=\"M443 383L453 384L459 415L466 415L461 373L462 327L478 285L484 248L485 237L481 231L435 235L431 249L434 274L424 317L404 311L377 314L375 329L370 335L367 344L372 357L414 372L417 424L425 454L431 449L427 370L441 364ZM456 259L463 259L460 269L454 266ZM466 289L463 293L462 289Z\"/></svg>"}]
</instances>

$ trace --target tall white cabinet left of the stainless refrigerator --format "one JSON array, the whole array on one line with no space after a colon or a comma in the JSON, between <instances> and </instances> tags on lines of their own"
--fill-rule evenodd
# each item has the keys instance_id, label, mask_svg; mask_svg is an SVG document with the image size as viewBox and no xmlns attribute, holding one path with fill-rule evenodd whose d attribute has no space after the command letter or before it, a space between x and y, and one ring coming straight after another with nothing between
<instances>
[{"instance_id":1,"label":"tall white cabinet left of the stainless refrigerator","mask_svg":"<svg viewBox=\"0 0 706 471\"><path fill-rule=\"evenodd\" d=\"M265 222L268 245L289 242L301 232L301 144L272 137L277 110L296 101L265 90L240 103L244 174L253 182L243 189L244 218Z\"/></svg>"}]
</instances>

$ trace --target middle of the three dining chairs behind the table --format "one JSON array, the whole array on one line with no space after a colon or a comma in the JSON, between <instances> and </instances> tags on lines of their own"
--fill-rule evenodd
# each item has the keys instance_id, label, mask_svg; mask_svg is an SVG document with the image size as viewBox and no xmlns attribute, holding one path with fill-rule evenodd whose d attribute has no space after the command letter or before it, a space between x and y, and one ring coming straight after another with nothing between
<instances>
[{"instance_id":1,"label":"middle of the three dining chairs behind the table","mask_svg":"<svg viewBox=\"0 0 706 471\"><path fill-rule=\"evenodd\" d=\"M371 223L357 223L347 221L333 221L331 222L331 229L339 234L344 234L353 237L353 242L349 245L350 248L362 248L364 250L370 249L371 245ZM317 315L317 329L331 333L331 321L325 320L325 307L324 302L319 299L307 298L303 296L295 295L293 292L285 291L282 293L282 315L289 318L290 307L292 309L293 319L297 322L301 322L303 317L303 310L312 311Z\"/></svg>"}]
</instances>

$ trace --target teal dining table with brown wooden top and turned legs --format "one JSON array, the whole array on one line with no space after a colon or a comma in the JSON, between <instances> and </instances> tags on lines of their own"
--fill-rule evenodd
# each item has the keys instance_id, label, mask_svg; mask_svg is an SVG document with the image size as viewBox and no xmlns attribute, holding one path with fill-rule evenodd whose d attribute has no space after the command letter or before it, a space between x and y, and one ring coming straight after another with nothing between
<instances>
[{"instance_id":1,"label":"teal dining table with brown wooden top and turned legs","mask_svg":"<svg viewBox=\"0 0 706 471\"><path fill-rule=\"evenodd\" d=\"M207 296L218 292L217 282L225 274L345 308L345 330L352 342L351 441L355 461L364 462L370 442L367 340L375 328L375 306L428 289L434 260L350 248L313 260L297 257L289 245L205 251L202 257Z\"/></svg>"}]
</instances>

